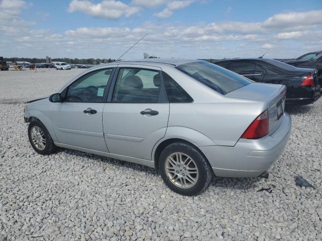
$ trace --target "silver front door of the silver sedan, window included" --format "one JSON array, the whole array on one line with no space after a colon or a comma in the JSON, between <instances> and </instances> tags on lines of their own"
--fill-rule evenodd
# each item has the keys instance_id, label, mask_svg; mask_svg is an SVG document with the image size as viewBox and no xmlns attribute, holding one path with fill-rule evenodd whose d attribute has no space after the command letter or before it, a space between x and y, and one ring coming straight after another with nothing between
<instances>
[{"instance_id":1,"label":"silver front door of the silver sedan, window included","mask_svg":"<svg viewBox=\"0 0 322 241\"><path fill-rule=\"evenodd\" d=\"M113 70L102 68L79 77L61 92L63 102L52 103L52 124L62 146L108 152L102 115Z\"/></svg>"}]
</instances>

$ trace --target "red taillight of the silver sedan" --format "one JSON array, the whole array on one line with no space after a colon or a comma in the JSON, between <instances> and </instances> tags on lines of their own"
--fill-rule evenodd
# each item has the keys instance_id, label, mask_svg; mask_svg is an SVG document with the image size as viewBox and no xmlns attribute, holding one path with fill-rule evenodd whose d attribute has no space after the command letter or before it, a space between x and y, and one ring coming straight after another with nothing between
<instances>
[{"instance_id":1,"label":"red taillight of the silver sedan","mask_svg":"<svg viewBox=\"0 0 322 241\"><path fill-rule=\"evenodd\" d=\"M268 110L265 110L255 121L246 129L241 138L246 139L259 139L268 134L269 131L269 118Z\"/></svg>"}]
</instances>

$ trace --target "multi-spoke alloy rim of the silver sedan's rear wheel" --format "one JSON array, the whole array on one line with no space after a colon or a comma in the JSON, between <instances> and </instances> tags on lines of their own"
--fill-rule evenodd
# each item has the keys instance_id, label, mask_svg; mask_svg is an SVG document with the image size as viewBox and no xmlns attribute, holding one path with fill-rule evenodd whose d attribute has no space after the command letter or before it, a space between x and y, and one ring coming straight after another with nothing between
<instances>
[{"instance_id":1,"label":"multi-spoke alloy rim of the silver sedan's rear wheel","mask_svg":"<svg viewBox=\"0 0 322 241\"><path fill-rule=\"evenodd\" d=\"M166 160L165 168L170 181L180 188L193 187L198 181L197 165L191 157L184 153L171 154Z\"/></svg>"}]
</instances>

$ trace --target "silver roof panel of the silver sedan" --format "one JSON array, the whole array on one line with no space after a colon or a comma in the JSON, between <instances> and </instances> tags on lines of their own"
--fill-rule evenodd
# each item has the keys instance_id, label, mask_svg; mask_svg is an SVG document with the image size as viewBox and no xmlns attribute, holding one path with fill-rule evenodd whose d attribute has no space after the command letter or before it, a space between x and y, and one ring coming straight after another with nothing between
<instances>
[{"instance_id":1,"label":"silver roof panel of the silver sedan","mask_svg":"<svg viewBox=\"0 0 322 241\"><path fill-rule=\"evenodd\" d=\"M167 64L172 66L178 66L181 64L186 63L192 63L192 62L202 62L203 60L199 59L179 59L179 58L173 58L173 59L161 59L161 58L155 58L155 59L138 59L138 60L119 60L111 63L107 63L105 65L109 64L144 64L144 63L153 63L153 64Z\"/></svg>"}]
</instances>

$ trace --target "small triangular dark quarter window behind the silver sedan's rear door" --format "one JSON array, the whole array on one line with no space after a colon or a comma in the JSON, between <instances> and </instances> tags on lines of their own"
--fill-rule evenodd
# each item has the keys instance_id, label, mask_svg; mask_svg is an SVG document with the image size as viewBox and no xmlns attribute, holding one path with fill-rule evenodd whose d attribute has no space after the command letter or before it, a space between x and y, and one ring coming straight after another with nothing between
<instances>
[{"instance_id":1,"label":"small triangular dark quarter window behind the silver sedan's rear door","mask_svg":"<svg viewBox=\"0 0 322 241\"><path fill-rule=\"evenodd\" d=\"M170 103L189 103L191 96L166 72L162 72Z\"/></svg>"}]
</instances>

